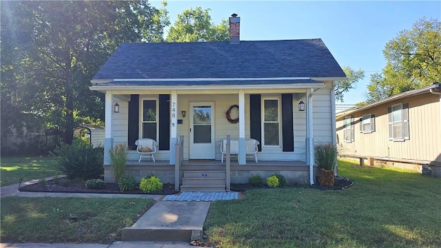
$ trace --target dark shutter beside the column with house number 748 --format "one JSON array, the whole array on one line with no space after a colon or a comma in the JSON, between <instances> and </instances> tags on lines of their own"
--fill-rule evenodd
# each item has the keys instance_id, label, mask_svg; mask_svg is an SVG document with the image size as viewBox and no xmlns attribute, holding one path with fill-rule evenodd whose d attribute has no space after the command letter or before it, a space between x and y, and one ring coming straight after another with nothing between
<instances>
[{"instance_id":1,"label":"dark shutter beside the column with house number 748","mask_svg":"<svg viewBox=\"0 0 441 248\"><path fill-rule=\"evenodd\" d=\"M170 150L170 95L159 95L159 149Z\"/></svg>"}]
</instances>

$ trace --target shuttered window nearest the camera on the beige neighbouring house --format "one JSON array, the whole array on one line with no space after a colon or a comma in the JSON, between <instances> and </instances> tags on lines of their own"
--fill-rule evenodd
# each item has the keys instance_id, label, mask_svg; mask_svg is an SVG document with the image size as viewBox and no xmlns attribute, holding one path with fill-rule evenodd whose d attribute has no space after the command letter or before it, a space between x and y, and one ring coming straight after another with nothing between
<instances>
[{"instance_id":1,"label":"shuttered window nearest the camera on the beige neighbouring house","mask_svg":"<svg viewBox=\"0 0 441 248\"><path fill-rule=\"evenodd\" d=\"M399 103L387 108L389 117L389 140L409 139L409 103Z\"/></svg>"}]
</instances>

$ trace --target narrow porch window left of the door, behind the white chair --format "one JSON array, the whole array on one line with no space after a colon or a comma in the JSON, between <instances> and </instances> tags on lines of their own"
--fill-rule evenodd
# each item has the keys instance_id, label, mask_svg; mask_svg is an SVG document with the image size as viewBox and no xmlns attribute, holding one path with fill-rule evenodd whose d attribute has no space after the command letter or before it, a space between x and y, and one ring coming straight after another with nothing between
<instances>
[{"instance_id":1,"label":"narrow porch window left of the door, behind the white chair","mask_svg":"<svg viewBox=\"0 0 441 248\"><path fill-rule=\"evenodd\" d=\"M141 137L153 138L158 141L158 104L156 99L143 99L141 109Z\"/></svg>"}]
</instances>

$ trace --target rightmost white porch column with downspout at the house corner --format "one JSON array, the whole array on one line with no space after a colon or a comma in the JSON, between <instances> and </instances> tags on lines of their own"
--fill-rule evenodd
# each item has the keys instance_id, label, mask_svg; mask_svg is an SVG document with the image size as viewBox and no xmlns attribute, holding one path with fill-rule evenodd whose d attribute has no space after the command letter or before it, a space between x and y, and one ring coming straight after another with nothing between
<instances>
[{"instance_id":1,"label":"rightmost white porch column with downspout at the house corner","mask_svg":"<svg viewBox=\"0 0 441 248\"><path fill-rule=\"evenodd\" d=\"M314 89L308 89L306 103L306 138L307 138L307 165L309 165L309 183L314 185L314 137L313 137L313 115L312 112L312 95Z\"/></svg>"}]
</instances>

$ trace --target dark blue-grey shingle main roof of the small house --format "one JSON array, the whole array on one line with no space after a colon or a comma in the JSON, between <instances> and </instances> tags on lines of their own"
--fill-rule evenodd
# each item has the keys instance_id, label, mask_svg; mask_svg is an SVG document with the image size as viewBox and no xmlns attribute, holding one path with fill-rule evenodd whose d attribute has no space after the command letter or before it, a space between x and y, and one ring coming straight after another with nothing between
<instances>
[{"instance_id":1,"label":"dark blue-grey shingle main roof of the small house","mask_svg":"<svg viewBox=\"0 0 441 248\"><path fill-rule=\"evenodd\" d=\"M344 77L321 39L123 43L94 79Z\"/></svg>"}]
</instances>

